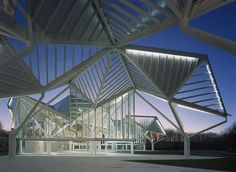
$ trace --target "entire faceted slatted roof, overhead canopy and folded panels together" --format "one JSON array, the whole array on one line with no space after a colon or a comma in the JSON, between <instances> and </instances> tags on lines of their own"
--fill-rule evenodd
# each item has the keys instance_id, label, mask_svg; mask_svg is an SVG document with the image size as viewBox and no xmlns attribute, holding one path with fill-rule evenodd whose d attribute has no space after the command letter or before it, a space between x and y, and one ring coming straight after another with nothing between
<instances>
[{"instance_id":1,"label":"entire faceted slatted roof, overhead canopy and folded panels together","mask_svg":"<svg viewBox=\"0 0 236 172\"><path fill-rule=\"evenodd\" d=\"M191 32L183 22L230 2L22 0L7 9L0 6L0 98L70 83L94 106L139 89L177 104L226 114L211 69L208 74L214 97L190 100L189 96L176 96L187 88L200 65L209 65L206 56L127 44L176 24ZM210 40L235 53L229 42ZM196 97L200 96L210 94Z\"/></svg>"}]
</instances>

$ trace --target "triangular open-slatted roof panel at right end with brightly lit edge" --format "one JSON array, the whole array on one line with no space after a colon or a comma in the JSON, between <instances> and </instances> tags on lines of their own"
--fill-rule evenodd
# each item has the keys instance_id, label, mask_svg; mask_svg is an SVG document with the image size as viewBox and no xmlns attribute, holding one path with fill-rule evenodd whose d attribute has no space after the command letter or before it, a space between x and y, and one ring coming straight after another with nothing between
<instances>
[{"instance_id":1,"label":"triangular open-slatted roof panel at right end with brightly lit edge","mask_svg":"<svg viewBox=\"0 0 236 172\"><path fill-rule=\"evenodd\" d=\"M183 106L192 104L203 111L210 109L209 112L220 116L222 116L222 113L226 113L217 83L208 62L202 63L191 75L189 80L175 95L174 101Z\"/></svg>"}]
</instances>

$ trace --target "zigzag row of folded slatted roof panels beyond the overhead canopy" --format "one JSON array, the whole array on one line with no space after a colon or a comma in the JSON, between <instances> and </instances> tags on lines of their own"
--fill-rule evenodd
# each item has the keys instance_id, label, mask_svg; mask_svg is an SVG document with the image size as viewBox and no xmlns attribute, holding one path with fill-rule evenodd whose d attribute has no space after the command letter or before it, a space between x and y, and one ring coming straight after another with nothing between
<instances>
[{"instance_id":1,"label":"zigzag row of folded slatted roof panels beyond the overhead canopy","mask_svg":"<svg viewBox=\"0 0 236 172\"><path fill-rule=\"evenodd\" d=\"M103 48L96 51L87 49L88 54L77 54L76 57L72 54L81 47L58 45L53 47L52 45L46 47L40 45L41 53L25 58L25 63L34 73L34 77L41 78L40 84L45 85L45 89L52 89L70 83L92 106L101 106L130 90L138 89L167 101L173 100L177 104L193 105L197 109L217 113L221 116L226 114L208 58L204 54L127 45L115 49ZM36 48L36 52L38 48ZM48 55L44 53L49 53L55 48L59 52L62 51L63 56L51 52L50 55L54 56L54 59L47 60ZM69 48L71 48L70 51ZM86 50L83 52L85 53ZM39 65L39 60L36 60L34 65L32 62L31 64L27 63L29 58L43 60L43 57L47 60L44 66ZM75 58L83 60L77 60L76 65L73 63ZM62 61L59 63L56 59ZM38 65L38 68L35 67ZM55 67L55 70L51 70L52 66ZM44 72L40 70L40 67ZM205 67L203 73L208 77L207 81L209 82L204 82L204 79L202 82L206 87L211 87L213 92L211 94L199 93L194 97L181 97L180 93L183 90L186 91L186 89L202 83L198 81L195 83L192 80L196 80L196 76L202 76L201 69L203 67ZM57 68L62 68L60 74L58 74L59 69ZM191 86L189 87L189 85ZM34 87L32 89L35 90ZM5 92L3 93L5 94ZM213 97L209 97L210 95ZM196 99L200 96L203 100L189 101L190 98ZM206 96L209 98L205 98ZM213 102L213 100L215 101ZM211 101L210 104L201 103L207 101ZM218 108L216 108L217 105Z\"/></svg>"}]
</instances>

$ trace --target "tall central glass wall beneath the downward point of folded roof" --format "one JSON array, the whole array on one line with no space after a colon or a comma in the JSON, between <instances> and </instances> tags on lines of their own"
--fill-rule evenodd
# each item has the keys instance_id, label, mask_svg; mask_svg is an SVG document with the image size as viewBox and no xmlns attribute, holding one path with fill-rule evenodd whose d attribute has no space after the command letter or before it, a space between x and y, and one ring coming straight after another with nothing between
<instances>
[{"instance_id":1,"label":"tall central glass wall beneath the downward point of folded roof","mask_svg":"<svg viewBox=\"0 0 236 172\"><path fill-rule=\"evenodd\" d=\"M135 136L133 91L94 108L91 103L71 89L71 137L133 139Z\"/></svg>"}]
</instances>

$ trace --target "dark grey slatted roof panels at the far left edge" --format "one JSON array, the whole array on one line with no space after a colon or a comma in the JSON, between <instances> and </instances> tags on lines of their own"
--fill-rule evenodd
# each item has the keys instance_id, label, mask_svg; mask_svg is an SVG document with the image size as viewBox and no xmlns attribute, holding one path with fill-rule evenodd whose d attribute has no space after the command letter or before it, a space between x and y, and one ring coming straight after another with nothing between
<instances>
[{"instance_id":1,"label":"dark grey slatted roof panels at the far left edge","mask_svg":"<svg viewBox=\"0 0 236 172\"><path fill-rule=\"evenodd\" d=\"M0 39L0 64L4 64L15 53L6 40ZM0 98L27 95L40 90L40 84L22 61L12 61L1 66Z\"/></svg>"}]
</instances>

